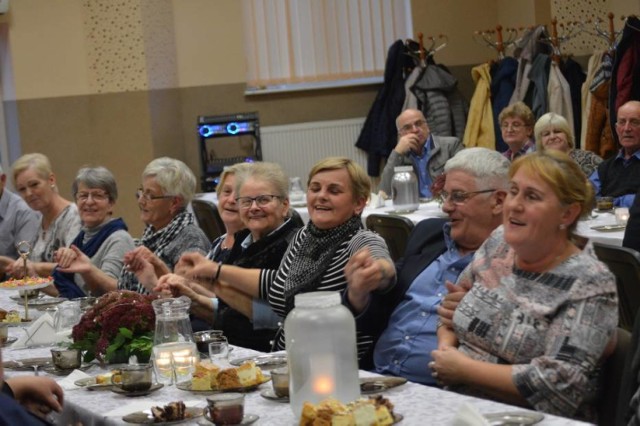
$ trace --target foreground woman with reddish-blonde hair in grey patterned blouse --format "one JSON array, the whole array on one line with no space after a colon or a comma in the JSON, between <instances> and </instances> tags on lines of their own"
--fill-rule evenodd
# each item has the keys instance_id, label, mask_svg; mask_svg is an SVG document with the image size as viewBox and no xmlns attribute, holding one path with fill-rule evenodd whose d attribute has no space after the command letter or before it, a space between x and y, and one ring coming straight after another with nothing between
<instances>
[{"instance_id":1,"label":"foreground woman with reddish-blonde hair in grey patterned blouse","mask_svg":"<svg viewBox=\"0 0 640 426\"><path fill-rule=\"evenodd\" d=\"M618 323L615 278L572 241L593 188L566 154L511 166L503 225L458 278L432 376L451 390L593 421L600 362Z\"/></svg>"}]
</instances>

